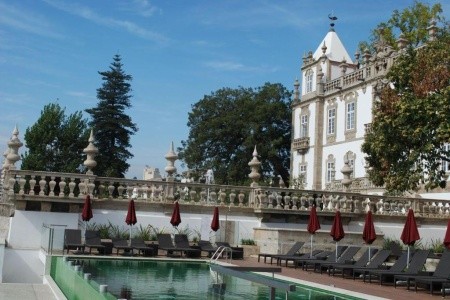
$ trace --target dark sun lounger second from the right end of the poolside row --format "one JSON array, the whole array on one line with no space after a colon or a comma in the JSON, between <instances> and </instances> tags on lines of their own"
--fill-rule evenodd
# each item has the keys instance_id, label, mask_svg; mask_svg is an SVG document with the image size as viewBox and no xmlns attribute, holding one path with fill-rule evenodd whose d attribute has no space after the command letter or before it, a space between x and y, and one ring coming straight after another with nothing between
<instances>
[{"instance_id":1,"label":"dark sun lounger second from the right end of the poolside row","mask_svg":"<svg viewBox=\"0 0 450 300\"><path fill-rule=\"evenodd\" d=\"M430 250L417 250L411 258L408 268L406 268L407 264L400 264L400 267L394 268L395 264L387 269L387 270L369 270L364 272L364 282L366 281L366 277L369 278L369 282L372 282L372 278L377 278L380 285L383 282L393 282L395 275L414 275L419 273L422 270L425 262L427 261L427 257L430 254ZM406 260L405 260L406 261Z\"/></svg>"}]
</instances>

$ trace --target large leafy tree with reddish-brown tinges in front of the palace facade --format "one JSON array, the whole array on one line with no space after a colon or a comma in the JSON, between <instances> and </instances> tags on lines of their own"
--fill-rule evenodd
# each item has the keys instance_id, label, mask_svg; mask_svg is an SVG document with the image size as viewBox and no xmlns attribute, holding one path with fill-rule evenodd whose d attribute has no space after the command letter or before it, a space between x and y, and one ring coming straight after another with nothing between
<instances>
[{"instance_id":1,"label":"large leafy tree with reddish-brown tinges in front of the palace facade","mask_svg":"<svg viewBox=\"0 0 450 300\"><path fill-rule=\"evenodd\" d=\"M448 27L424 47L410 47L387 75L362 150L369 177L388 192L445 187L450 161L450 43ZM447 147L446 147L447 145Z\"/></svg>"}]
</instances>

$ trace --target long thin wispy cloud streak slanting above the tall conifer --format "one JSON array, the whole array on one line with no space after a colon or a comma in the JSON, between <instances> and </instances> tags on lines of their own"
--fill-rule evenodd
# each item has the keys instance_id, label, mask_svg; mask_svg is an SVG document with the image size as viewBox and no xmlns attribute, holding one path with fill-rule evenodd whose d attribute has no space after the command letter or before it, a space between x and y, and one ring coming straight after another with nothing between
<instances>
[{"instance_id":1,"label":"long thin wispy cloud streak slanting above the tall conifer","mask_svg":"<svg viewBox=\"0 0 450 300\"><path fill-rule=\"evenodd\" d=\"M165 44L168 42L168 38L151 30L148 30L144 27L141 27L137 25L136 23L130 22L130 21L124 21L119 19L114 19L111 17L105 17L102 16L95 11L91 10L89 7L81 6L74 3L68 3L64 1L58 1L58 0L44 0L47 4L68 12L70 14L79 16L83 19L89 20L91 22L94 22L96 24L106 26L109 28L119 28L128 31L129 33L147 39L154 41L159 44Z\"/></svg>"}]
</instances>

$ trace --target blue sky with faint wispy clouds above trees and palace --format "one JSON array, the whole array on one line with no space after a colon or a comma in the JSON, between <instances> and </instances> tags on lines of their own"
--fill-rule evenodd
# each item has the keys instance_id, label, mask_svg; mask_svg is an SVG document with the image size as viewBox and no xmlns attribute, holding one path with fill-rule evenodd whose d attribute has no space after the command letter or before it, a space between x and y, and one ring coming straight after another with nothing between
<instances>
[{"instance_id":1,"label":"blue sky with faint wispy clouds above trees and palace","mask_svg":"<svg viewBox=\"0 0 450 300\"><path fill-rule=\"evenodd\" d=\"M449 4L442 3L448 18ZM24 142L25 129L50 102L67 113L94 107L98 71L120 54L133 76L127 113L139 127L127 177L142 178L145 165L165 175L164 155L172 141L177 147L187 139L188 112L204 95L265 82L292 90L303 54L314 51L329 29L328 14L338 17L336 32L352 56L394 9L412 4L0 0L0 151L16 124ZM181 170L179 161L176 166Z\"/></svg>"}]
</instances>

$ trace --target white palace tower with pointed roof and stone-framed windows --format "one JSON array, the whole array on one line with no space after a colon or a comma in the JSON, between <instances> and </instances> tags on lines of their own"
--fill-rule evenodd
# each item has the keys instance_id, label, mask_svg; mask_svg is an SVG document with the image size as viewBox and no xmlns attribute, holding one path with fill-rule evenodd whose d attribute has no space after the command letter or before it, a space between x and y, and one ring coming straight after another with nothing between
<instances>
[{"instance_id":1,"label":"white palace tower with pointed roof and stone-framed windows","mask_svg":"<svg viewBox=\"0 0 450 300\"><path fill-rule=\"evenodd\" d=\"M291 177L302 188L326 190L344 178L345 162L351 179L366 175L361 145L372 122L376 86L390 67L379 67L377 59L392 57L390 47L384 56L364 56L354 61L333 28L317 50L303 57L301 88L296 82L293 101L293 143Z\"/></svg>"}]
</instances>

